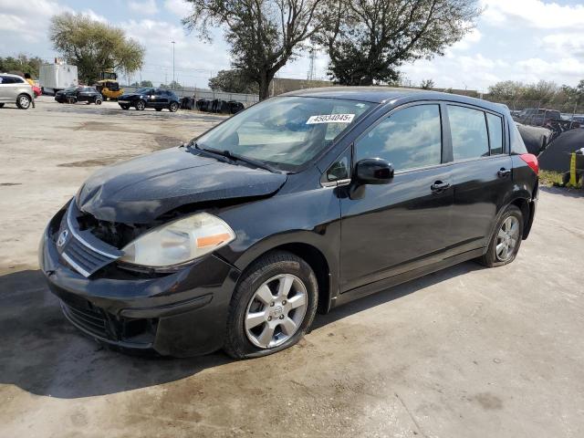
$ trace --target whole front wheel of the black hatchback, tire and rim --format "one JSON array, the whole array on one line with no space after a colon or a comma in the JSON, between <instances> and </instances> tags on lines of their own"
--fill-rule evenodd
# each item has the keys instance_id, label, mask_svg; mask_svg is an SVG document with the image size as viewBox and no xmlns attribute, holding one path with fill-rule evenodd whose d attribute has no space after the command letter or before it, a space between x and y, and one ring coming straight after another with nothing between
<instances>
[{"instance_id":1,"label":"whole front wheel of the black hatchback, tire and rim","mask_svg":"<svg viewBox=\"0 0 584 438\"><path fill-rule=\"evenodd\" d=\"M278 295L280 287L287 293ZM287 349L305 335L317 305L317 277L307 262L287 251L263 255L235 287L224 351L245 359ZM256 317L246 318L249 314Z\"/></svg>"}]
</instances>

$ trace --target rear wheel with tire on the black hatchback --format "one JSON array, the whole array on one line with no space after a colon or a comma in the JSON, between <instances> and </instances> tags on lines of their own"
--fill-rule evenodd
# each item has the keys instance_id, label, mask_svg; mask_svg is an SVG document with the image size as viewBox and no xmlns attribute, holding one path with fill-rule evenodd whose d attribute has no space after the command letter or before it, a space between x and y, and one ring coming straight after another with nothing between
<instances>
[{"instance_id":1,"label":"rear wheel with tire on the black hatchback","mask_svg":"<svg viewBox=\"0 0 584 438\"><path fill-rule=\"evenodd\" d=\"M509 224L516 226L514 228L511 225L511 232L509 232ZM521 210L516 205L509 205L496 223L485 255L480 257L478 261L488 267L504 266L513 262L521 246L524 224ZM507 239L506 236L509 238ZM503 246L497 250L499 244Z\"/></svg>"}]
</instances>

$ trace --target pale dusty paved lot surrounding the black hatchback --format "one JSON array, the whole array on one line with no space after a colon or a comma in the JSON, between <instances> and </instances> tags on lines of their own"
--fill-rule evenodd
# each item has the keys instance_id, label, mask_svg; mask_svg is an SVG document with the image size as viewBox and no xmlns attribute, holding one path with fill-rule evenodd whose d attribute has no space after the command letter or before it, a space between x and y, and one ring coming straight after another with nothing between
<instances>
[{"instance_id":1,"label":"pale dusty paved lot surrounding the black hatchback","mask_svg":"<svg viewBox=\"0 0 584 438\"><path fill-rule=\"evenodd\" d=\"M38 271L47 221L100 166L220 120L47 97L0 109L0 436L584 436L578 191L542 189L511 265L363 298L266 358L142 358L81 336Z\"/></svg>"}]
</instances>

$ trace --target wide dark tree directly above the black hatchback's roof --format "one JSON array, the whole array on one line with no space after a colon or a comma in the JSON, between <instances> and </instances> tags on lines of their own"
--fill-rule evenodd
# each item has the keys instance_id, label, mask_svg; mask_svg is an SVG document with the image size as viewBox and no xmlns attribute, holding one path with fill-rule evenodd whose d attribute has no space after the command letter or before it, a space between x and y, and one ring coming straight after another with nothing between
<instances>
[{"instance_id":1,"label":"wide dark tree directly above the black hatchback's roof","mask_svg":"<svg viewBox=\"0 0 584 438\"><path fill-rule=\"evenodd\" d=\"M401 64L443 55L474 27L476 0L336 0L318 41L328 75L343 85L395 81Z\"/></svg>"}]
</instances>

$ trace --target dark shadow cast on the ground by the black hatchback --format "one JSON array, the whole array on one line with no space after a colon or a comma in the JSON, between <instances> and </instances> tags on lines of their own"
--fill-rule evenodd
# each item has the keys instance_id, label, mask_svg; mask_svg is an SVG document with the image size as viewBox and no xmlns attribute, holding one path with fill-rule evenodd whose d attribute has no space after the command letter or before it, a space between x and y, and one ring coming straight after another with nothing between
<instances>
[{"instance_id":1,"label":"dark shadow cast on the ground by the black hatchback","mask_svg":"<svg viewBox=\"0 0 584 438\"><path fill-rule=\"evenodd\" d=\"M313 329L480 268L465 263L363 297L328 315L318 315ZM0 333L0 384L64 399L178 381L231 361L223 352L169 359L132 356L104 348L68 323L39 270L0 276Z\"/></svg>"}]
</instances>

